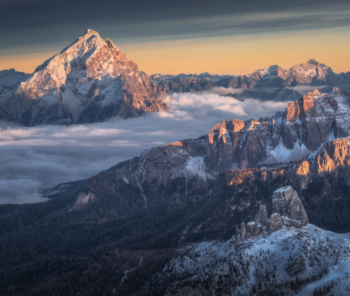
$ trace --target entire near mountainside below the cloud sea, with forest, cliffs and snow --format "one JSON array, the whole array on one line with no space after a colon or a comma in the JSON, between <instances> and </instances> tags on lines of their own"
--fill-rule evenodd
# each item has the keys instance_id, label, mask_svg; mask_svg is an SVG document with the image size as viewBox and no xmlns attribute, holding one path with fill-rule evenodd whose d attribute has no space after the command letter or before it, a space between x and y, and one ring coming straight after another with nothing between
<instances>
[{"instance_id":1,"label":"entire near mountainside below the cloud sea, with forest, cliffs and snow","mask_svg":"<svg viewBox=\"0 0 350 296\"><path fill-rule=\"evenodd\" d=\"M2 205L0 292L346 295L349 136L350 94L314 89Z\"/></svg>"}]
</instances>

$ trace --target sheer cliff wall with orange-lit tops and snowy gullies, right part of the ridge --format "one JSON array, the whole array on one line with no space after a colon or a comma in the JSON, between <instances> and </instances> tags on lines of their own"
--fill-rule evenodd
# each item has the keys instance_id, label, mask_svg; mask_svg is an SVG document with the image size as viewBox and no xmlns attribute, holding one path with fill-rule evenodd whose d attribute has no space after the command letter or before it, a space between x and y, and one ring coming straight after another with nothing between
<instances>
[{"instance_id":1,"label":"sheer cliff wall with orange-lit tops and snowy gullies, right part of the ridge","mask_svg":"<svg viewBox=\"0 0 350 296\"><path fill-rule=\"evenodd\" d=\"M349 98L341 89L314 89L271 118L218 123L207 136L207 167L218 173L300 161L321 144L349 136Z\"/></svg>"}]
</instances>

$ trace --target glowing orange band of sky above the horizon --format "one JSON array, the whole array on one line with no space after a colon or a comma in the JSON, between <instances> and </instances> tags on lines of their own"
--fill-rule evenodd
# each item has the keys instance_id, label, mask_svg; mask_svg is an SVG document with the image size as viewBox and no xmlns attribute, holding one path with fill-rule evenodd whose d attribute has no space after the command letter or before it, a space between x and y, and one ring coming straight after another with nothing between
<instances>
[{"instance_id":1,"label":"glowing orange band of sky above the horizon","mask_svg":"<svg viewBox=\"0 0 350 296\"><path fill-rule=\"evenodd\" d=\"M237 35L124 44L111 39L147 74L247 74L274 64L289 69L311 58L340 73L350 71L350 41L344 38L346 35L338 28L337 32L329 30L322 31L322 34L308 31L300 34ZM61 48L2 55L0 69L15 68L31 73L65 46L62 44Z\"/></svg>"}]
</instances>

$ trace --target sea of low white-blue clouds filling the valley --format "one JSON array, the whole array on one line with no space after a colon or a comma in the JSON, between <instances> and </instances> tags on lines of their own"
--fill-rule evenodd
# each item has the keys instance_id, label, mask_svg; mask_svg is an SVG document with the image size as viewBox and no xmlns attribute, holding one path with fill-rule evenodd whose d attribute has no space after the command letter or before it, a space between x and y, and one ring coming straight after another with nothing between
<instances>
[{"instance_id":1,"label":"sea of low white-blue clouds filling the valley","mask_svg":"<svg viewBox=\"0 0 350 296\"><path fill-rule=\"evenodd\" d=\"M85 125L24 127L0 123L0 203L43 200L58 183L85 179L142 150L205 135L223 120L271 116L287 102L243 102L215 92L162 98L168 112Z\"/></svg>"}]
</instances>

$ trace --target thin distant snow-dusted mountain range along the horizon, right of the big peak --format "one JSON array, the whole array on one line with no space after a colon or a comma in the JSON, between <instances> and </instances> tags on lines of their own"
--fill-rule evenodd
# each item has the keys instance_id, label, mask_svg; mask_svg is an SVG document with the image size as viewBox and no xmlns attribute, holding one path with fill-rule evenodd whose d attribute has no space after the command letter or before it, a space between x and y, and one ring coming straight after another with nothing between
<instances>
[{"instance_id":1,"label":"thin distant snow-dusted mountain range along the horizon, right of the big peak","mask_svg":"<svg viewBox=\"0 0 350 296\"><path fill-rule=\"evenodd\" d=\"M278 65L259 69L247 75L210 75L209 73L179 74L179 75L151 75L151 79L159 81L164 85L165 90L170 89L175 92L198 91L199 88L208 89L210 87L222 86L232 88L283 88L298 85L304 86L343 86L350 84L350 72L334 73L333 70L310 59L306 63L294 65L289 70L285 70ZM198 81L202 85L196 83ZM207 81L206 84L204 82ZM194 88L186 88L189 83L194 83ZM191 86L190 86L191 87Z\"/></svg>"}]
</instances>

